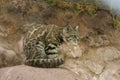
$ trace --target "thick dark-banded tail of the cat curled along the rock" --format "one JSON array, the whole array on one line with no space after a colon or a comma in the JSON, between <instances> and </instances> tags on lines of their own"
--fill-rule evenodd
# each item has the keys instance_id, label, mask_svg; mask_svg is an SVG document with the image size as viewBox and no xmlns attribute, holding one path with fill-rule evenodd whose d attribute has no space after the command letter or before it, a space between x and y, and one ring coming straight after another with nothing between
<instances>
[{"instance_id":1,"label":"thick dark-banded tail of the cat curled along the rock","mask_svg":"<svg viewBox=\"0 0 120 80\"><path fill-rule=\"evenodd\" d=\"M51 59L28 59L25 61L26 65L41 68L56 68L63 64L62 58L51 58Z\"/></svg>"}]
</instances>

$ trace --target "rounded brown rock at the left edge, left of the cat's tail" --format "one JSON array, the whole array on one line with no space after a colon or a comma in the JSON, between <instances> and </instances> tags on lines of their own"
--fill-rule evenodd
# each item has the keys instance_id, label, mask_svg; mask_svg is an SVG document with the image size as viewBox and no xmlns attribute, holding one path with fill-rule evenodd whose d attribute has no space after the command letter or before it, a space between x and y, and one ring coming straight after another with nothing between
<instances>
[{"instance_id":1,"label":"rounded brown rock at the left edge, left of the cat's tail","mask_svg":"<svg viewBox=\"0 0 120 80\"><path fill-rule=\"evenodd\" d=\"M21 59L13 50L0 46L0 67L18 65L21 62Z\"/></svg>"}]
</instances>

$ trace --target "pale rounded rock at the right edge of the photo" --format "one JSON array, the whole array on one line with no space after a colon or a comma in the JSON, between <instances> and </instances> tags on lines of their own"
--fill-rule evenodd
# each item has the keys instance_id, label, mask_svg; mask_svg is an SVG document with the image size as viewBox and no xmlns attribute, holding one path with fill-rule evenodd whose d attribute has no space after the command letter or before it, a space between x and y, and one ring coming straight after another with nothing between
<instances>
[{"instance_id":1,"label":"pale rounded rock at the right edge of the photo","mask_svg":"<svg viewBox=\"0 0 120 80\"><path fill-rule=\"evenodd\" d=\"M98 48L96 54L104 61L112 61L120 58L120 51L114 47Z\"/></svg>"}]
</instances>

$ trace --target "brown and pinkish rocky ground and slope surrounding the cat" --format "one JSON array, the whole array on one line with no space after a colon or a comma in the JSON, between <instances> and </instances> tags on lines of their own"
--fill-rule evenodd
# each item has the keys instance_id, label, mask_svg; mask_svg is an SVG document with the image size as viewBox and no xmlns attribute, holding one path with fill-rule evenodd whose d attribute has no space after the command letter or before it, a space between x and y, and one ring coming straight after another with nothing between
<instances>
[{"instance_id":1,"label":"brown and pinkish rocky ground and slope surrounding the cat","mask_svg":"<svg viewBox=\"0 0 120 80\"><path fill-rule=\"evenodd\" d=\"M106 7L96 13L51 7L44 0L1 0L0 80L119 80L120 21L115 19L114 26ZM60 56L65 57L60 69L22 65L22 42L30 23L79 26L79 46L60 47Z\"/></svg>"}]
</instances>

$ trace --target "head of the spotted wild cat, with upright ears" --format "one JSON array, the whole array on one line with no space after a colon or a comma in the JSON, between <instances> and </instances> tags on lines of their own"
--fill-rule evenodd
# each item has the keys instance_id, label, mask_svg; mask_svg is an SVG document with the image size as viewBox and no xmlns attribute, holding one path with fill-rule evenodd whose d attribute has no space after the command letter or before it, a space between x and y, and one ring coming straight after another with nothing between
<instances>
[{"instance_id":1,"label":"head of the spotted wild cat, with upright ears","mask_svg":"<svg viewBox=\"0 0 120 80\"><path fill-rule=\"evenodd\" d=\"M72 27L71 25L64 27L62 34L63 41L77 44L79 41L78 27L79 26Z\"/></svg>"}]
</instances>

